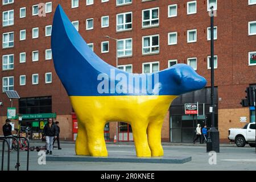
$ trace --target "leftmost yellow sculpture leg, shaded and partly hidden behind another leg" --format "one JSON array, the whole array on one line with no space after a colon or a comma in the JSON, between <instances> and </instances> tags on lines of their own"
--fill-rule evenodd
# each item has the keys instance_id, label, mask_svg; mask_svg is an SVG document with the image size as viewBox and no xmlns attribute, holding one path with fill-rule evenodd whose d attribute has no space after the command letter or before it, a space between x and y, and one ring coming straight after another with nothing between
<instances>
[{"instance_id":1,"label":"leftmost yellow sculpture leg, shaded and partly hidden behind another leg","mask_svg":"<svg viewBox=\"0 0 256 182\"><path fill-rule=\"evenodd\" d=\"M76 155L90 155L87 145L85 126L79 122L79 130L76 137Z\"/></svg>"}]
</instances>

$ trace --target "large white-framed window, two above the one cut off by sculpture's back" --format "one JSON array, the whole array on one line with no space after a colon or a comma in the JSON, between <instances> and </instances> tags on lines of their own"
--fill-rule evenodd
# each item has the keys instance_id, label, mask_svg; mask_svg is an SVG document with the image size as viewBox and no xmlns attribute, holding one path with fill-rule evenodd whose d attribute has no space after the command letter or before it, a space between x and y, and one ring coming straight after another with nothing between
<instances>
[{"instance_id":1,"label":"large white-framed window, two above the one cut off by sculpture's back","mask_svg":"<svg viewBox=\"0 0 256 182\"><path fill-rule=\"evenodd\" d=\"M159 25L159 7L142 10L142 27Z\"/></svg>"}]
</instances>

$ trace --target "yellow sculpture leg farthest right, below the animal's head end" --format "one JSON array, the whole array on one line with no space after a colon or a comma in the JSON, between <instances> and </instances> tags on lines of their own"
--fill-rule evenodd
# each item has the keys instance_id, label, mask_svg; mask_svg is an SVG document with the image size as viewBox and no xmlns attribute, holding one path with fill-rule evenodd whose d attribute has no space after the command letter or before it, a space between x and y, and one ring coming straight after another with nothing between
<instances>
[{"instance_id":1,"label":"yellow sculpture leg farthest right, below the animal's head end","mask_svg":"<svg viewBox=\"0 0 256 182\"><path fill-rule=\"evenodd\" d=\"M147 127L148 144L151 150L151 156L163 156L164 151L161 144L162 122L151 122Z\"/></svg>"}]
</instances>

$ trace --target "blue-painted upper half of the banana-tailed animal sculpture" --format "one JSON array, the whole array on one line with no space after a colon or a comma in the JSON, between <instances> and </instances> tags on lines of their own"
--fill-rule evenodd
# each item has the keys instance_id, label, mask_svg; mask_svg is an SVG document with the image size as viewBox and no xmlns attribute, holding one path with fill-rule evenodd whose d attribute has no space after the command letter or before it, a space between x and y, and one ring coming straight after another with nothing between
<instances>
[{"instance_id":1,"label":"blue-painted upper half of the banana-tailed animal sculpture","mask_svg":"<svg viewBox=\"0 0 256 182\"><path fill-rule=\"evenodd\" d=\"M177 96L193 90L203 89L207 84L204 77L198 75L186 64L176 64L158 73L150 74L127 73L109 65L91 51L79 32L73 27L60 5L57 6L53 18L51 47L56 73L69 96ZM143 81L140 80L137 86L135 81L128 82L127 85L127 87L131 86L137 89L138 92L136 93L118 93L116 90L110 89L108 89L108 92L99 93L97 88L102 80L97 78L101 73L104 73L105 77L109 78L109 88L111 84L120 84L118 78L110 77L111 70L112 72L114 71L115 75L122 73L122 76L127 78L130 76L135 79L141 79L146 76L147 92L143 92ZM159 82L154 82L157 76ZM125 90L125 88L123 89ZM150 92L148 90L159 90L159 92Z\"/></svg>"}]
</instances>

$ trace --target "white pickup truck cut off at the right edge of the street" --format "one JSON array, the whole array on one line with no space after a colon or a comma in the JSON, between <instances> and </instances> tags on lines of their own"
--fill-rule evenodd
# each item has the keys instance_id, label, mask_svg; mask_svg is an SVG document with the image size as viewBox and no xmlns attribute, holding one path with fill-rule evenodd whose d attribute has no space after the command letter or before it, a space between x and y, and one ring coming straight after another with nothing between
<instances>
[{"instance_id":1,"label":"white pickup truck cut off at the right edge of the street","mask_svg":"<svg viewBox=\"0 0 256 182\"><path fill-rule=\"evenodd\" d=\"M255 123L247 123L242 129L229 129L228 139L237 147L244 147L246 143L255 147Z\"/></svg>"}]
</instances>

